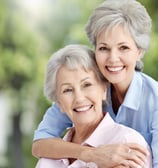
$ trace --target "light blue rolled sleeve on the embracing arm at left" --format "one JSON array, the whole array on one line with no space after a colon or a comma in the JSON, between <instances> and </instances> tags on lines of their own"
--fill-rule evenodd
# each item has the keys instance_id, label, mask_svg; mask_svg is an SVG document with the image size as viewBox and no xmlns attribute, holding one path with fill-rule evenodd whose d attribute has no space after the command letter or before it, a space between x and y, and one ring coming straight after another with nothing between
<instances>
[{"instance_id":1,"label":"light blue rolled sleeve on the embracing arm at left","mask_svg":"<svg viewBox=\"0 0 158 168\"><path fill-rule=\"evenodd\" d=\"M65 113L62 113L56 103L54 103L43 116L43 120L34 132L33 140L46 139L52 137L60 138L64 130L72 126L71 120Z\"/></svg>"}]
</instances>

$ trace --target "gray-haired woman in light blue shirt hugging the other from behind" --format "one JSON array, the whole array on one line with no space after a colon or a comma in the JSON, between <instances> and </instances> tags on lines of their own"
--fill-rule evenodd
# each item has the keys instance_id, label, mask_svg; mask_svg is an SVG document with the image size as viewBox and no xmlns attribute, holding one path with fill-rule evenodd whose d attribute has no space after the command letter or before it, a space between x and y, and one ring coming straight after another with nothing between
<instances>
[{"instance_id":1,"label":"gray-haired woman in light blue shirt hugging the other from behind","mask_svg":"<svg viewBox=\"0 0 158 168\"><path fill-rule=\"evenodd\" d=\"M135 0L105 1L94 10L86 25L87 36L95 46L98 67L110 83L105 111L117 123L134 128L144 136L152 149L153 167L156 168L158 83L137 66L150 45L150 32L151 19L144 6ZM54 117L57 119L52 123ZM62 126L57 123L59 121L63 121ZM68 126L71 126L70 121L59 112L56 104L53 105L35 132L34 140L38 141L33 144L33 154L52 158L72 156L94 161L101 168L114 167L122 162L129 167L142 165L140 157L145 158L145 151L136 144L105 145L92 152L77 146L72 149L69 144L52 138L60 137ZM45 139L39 140L41 138ZM65 152L60 152L59 142ZM45 152L44 148L51 150ZM58 154L55 155L53 149ZM132 154L127 155L129 149Z\"/></svg>"}]
</instances>

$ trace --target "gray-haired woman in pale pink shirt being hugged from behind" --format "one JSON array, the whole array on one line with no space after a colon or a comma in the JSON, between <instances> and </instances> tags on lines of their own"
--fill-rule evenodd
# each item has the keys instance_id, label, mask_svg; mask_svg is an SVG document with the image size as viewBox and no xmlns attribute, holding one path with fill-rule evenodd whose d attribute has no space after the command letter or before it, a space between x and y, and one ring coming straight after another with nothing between
<instances>
[{"instance_id":1,"label":"gray-haired woman in pale pink shirt being hugged from behind","mask_svg":"<svg viewBox=\"0 0 158 168\"><path fill-rule=\"evenodd\" d=\"M67 45L52 55L47 64L44 93L58 103L73 122L64 141L87 147L137 142L148 150L146 167L152 167L150 147L137 131L115 123L103 112L107 81L95 61L94 52L84 45ZM123 163L122 163L123 165ZM121 166L121 164L119 165ZM98 168L79 159L39 159L36 168Z\"/></svg>"}]
</instances>

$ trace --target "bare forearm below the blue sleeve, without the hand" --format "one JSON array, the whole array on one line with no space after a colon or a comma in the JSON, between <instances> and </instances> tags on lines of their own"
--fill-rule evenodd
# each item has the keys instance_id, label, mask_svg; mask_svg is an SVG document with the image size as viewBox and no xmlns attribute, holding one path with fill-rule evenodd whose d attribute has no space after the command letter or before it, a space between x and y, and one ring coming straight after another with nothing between
<instances>
[{"instance_id":1,"label":"bare forearm below the blue sleeve, without the hand","mask_svg":"<svg viewBox=\"0 0 158 168\"><path fill-rule=\"evenodd\" d=\"M38 157L53 159L82 158L82 160L84 160L82 153L84 153L84 151L88 152L91 149L91 147L66 142L60 138L48 138L35 141L32 146L32 153Z\"/></svg>"}]
</instances>

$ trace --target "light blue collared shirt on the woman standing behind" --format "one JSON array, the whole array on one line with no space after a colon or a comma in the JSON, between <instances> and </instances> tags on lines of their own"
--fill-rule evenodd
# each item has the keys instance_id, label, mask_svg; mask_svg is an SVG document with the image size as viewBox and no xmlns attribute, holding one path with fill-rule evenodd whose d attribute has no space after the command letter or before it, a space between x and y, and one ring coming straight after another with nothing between
<instances>
[{"instance_id":1,"label":"light blue collared shirt on the woman standing behind","mask_svg":"<svg viewBox=\"0 0 158 168\"><path fill-rule=\"evenodd\" d=\"M107 97L110 100L110 86ZM152 149L153 166L158 168L158 82L144 73L135 72L117 115L113 112L111 101L105 111L117 123L129 126L143 135ZM71 126L70 119L54 104L35 131L34 140L60 137L64 129Z\"/></svg>"}]
</instances>

